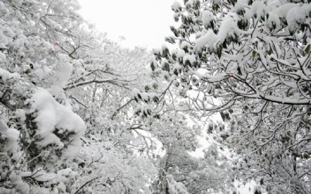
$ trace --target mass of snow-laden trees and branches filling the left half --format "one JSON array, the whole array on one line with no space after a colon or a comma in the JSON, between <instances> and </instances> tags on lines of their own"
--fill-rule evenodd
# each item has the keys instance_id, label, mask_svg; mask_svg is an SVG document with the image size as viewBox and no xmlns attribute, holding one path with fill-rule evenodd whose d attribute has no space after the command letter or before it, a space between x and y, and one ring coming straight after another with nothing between
<instances>
[{"instance_id":1,"label":"mass of snow-laden trees and branches filling the left half","mask_svg":"<svg viewBox=\"0 0 311 194\"><path fill-rule=\"evenodd\" d=\"M0 2L0 193L149 193L156 170L127 130L147 52L107 40L78 8Z\"/></svg>"}]
</instances>

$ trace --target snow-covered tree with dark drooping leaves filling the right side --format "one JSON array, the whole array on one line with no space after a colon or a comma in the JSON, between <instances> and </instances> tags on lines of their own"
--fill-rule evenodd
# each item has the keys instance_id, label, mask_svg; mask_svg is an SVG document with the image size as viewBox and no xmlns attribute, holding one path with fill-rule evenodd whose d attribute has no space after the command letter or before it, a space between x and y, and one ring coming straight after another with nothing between
<instances>
[{"instance_id":1,"label":"snow-covered tree with dark drooping leaves filling the right side","mask_svg":"<svg viewBox=\"0 0 311 194\"><path fill-rule=\"evenodd\" d=\"M234 153L238 181L310 193L310 3L185 0L172 10L178 26L166 40L178 49L153 52L164 85L153 88L155 110L220 113L225 124L207 131ZM170 90L179 97L164 100Z\"/></svg>"}]
</instances>

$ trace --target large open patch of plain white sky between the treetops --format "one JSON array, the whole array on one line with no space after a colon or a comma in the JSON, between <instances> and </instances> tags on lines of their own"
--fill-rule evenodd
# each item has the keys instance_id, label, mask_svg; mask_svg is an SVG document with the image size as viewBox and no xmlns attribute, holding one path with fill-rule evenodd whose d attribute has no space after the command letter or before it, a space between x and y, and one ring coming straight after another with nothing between
<instances>
[{"instance_id":1,"label":"large open patch of plain white sky between the treetops","mask_svg":"<svg viewBox=\"0 0 311 194\"><path fill-rule=\"evenodd\" d=\"M78 0L84 19L122 46L161 47L172 35L171 5L176 0ZM124 40L120 37L125 37Z\"/></svg>"}]
</instances>

